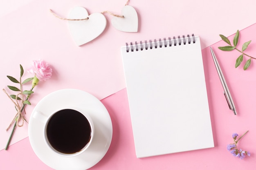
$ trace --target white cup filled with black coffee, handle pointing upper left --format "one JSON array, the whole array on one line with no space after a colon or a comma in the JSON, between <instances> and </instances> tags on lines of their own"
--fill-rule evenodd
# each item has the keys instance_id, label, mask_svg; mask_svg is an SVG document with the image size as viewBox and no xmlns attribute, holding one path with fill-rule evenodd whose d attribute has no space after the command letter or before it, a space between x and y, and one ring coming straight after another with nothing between
<instances>
[{"instance_id":1,"label":"white cup filled with black coffee, handle pointing upper left","mask_svg":"<svg viewBox=\"0 0 256 170\"><path fill-rule=\"evenodd\" d=\"M59 108L50 114L36 110L33 118L44 124L43 138L45 144L52 152L60 156L74 157L80 155L92 143L93 121L80 108L72 106Z\"/></svg>"}]
</instances>

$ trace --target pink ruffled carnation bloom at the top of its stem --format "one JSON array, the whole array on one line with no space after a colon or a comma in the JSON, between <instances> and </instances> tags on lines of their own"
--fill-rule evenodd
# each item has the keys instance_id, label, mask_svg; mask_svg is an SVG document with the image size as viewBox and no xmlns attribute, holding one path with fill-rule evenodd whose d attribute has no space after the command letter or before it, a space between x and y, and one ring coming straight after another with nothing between
<instances>
[{"instance_id":1,"label":"pink ruffled carnation bloom at the top of its stem","mask_svg":"<svg viewBox=\"0 0 256 170\"><path fill-rule=\"evenodd\" d=\"M33 60L33 64L27 72L35 74L40 81L45 81L52 76L52 68L43 60Z\"/></svg>"}]
</instances>

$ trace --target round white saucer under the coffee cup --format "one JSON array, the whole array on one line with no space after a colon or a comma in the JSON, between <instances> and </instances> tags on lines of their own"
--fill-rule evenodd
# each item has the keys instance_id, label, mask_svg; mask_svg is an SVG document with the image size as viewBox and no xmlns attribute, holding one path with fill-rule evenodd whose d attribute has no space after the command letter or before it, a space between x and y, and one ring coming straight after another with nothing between
<instances>
[{"instance_id":1,"label":"round white saucer under the coffee cup","mask_svg":"<svg viewBox=\"0 0 256 170\"><path fill-rule=\"evenodd\" d=\"M87 111L94 122L94 138L85 152L75 157L62 157L50 150L43 139L43 123L33 118L38 110L52 113L63 106L75 106ZM63 89L45 96L34 108L29 120L29 141L46 165L56 170L86 170L98 163L108 151L112 140L112 122L105 106L93 95L76 90Z\"/></svg>"}]
</instances>

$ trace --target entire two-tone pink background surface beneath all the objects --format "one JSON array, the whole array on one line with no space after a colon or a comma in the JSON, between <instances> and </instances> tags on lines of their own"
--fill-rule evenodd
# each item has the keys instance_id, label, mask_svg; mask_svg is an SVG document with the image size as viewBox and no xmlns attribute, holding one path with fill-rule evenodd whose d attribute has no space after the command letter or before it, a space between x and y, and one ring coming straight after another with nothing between
<instances>
[{"instance_id":1,"label":"entire two-tone pink background surface beneath all the objects","mask_svg":"<svg viewBox=\"0 0 256 170\"><path fill-rule=\"evenodd\" d=\"M31 97L32 105L26 109L27 119L40 99L62 88L78 88L101 99L112 119L113 138L106 156L90 168L92 170L253 169L256 165L255 60L252 60L247 71L243 71L241 66L234 68L236 58L240 54L237 51L220 51L217 47L226 45L223 41L219 42L219 34L231 35L232 40L232 34L239 29L241 31L238 46L241 48L243 42L252 40L246 53L256 54L256 2L245 0L241 3L240 0L233 0L231 3L216 0L210 5L205 0L130 1L129 5L137 10L139 16L138 33L117 31L111 25L112 16L106 14L107 27L103 34L80 47L74 44L67 22L58 20L49 13L49 9L52 9L65 17L72 7L83 6L89 13L108 10L119 14L125 3L121 0L27 0L22 4L14 0L0 2L1 87L7 89L7 85L13 85L6 75L18 77L19 64L26 69L32 60L42 58L51 64L54 72L51 79L41 82L35 88L35 94ZM238 13L241 9L246 10L246 13ZM120 47L130 41L191 33L200 35L201 38L215 147L137 159ZM234 97L238 111L236 116L229 110L222 93L222 86L209 51L210 45L218 57ZM31 75L25 73L24 77ZM13 118L15 109L4 93L0 93L0 96L0 149L3 149L10 134L5 128ZM249 150L252 154L251 157L240 160L233 157L226 146L232 142L233 132L242 135L246 130L249 132L241 139L238 147ZM27 124L16 129L12 145L7 151L0 151L0 160L1 170L51 169L34 154L27 137Z\"/></svg>"}]
</instances>

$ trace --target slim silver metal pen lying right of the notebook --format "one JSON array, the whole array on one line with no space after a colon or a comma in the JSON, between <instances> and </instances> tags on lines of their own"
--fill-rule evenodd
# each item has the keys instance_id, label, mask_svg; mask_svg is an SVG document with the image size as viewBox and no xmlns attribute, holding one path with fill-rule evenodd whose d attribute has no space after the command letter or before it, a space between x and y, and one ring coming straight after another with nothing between
<instances>
[{"instance_id":1,"label":"slim silver metal pen lying right of the notebook","mask_svg":"<svg viewBox=\"0 0 256 170\"><path fill-rule=\"evenodd\" d=\"M220 69L220 65L218 63L218 60L217 60L215 54L213 53L213 50L211 49L211 46L210 46L210 50L211 50L211 55L213 57L213 62L216 66L216 70L217 70L218 75L220 77L220 82L221 82L223 90L224 90L223 93L224 93L225 98L227 100L227 104L229 105L229 109L233 110L234 114L236 115L236 107L235 107L234 101L232 99L231 93L230 93L229 88L227 86L227 82L225 80L225 77L224 77L224 75L223 75L223 73Z\"/></svg>"}]
</instances>

